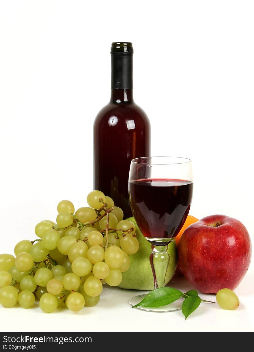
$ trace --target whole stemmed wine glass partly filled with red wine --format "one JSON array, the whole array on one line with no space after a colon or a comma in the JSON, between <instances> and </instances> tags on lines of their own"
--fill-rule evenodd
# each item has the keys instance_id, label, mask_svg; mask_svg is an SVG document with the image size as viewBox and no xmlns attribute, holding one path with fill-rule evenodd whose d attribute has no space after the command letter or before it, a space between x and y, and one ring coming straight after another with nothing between
<instances>
[{"instance_id":1,"label":"whole stemmed wine glass partly filled with red wine","mask_svg":"<svg viewBox=\"0 0 254 352\"><path fill-rule=\"evenodd\" d=\"M188 216L192 198L191 160L179 157L142 157L131 161L129 171L129 199L136 223L151 243L150 264L154 289L165 285L169 266L169 243L176 237ZM130 300L131 306L143 296ZM169 308L145 308L153 312L180 309L179 302Z\"/></svg>"}]
</instances>

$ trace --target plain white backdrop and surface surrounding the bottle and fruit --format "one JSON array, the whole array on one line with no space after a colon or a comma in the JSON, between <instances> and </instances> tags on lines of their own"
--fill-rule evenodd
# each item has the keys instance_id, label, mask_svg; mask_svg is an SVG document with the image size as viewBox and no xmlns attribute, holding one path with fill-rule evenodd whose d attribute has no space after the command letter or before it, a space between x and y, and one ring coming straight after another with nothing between
<instances>
[{"instance_id":1,"label":"plain white backdrop and surface surrounding the bottle and fruit","mask_svg":"<svg viewBox=\"0 0 254 352\"><path fill-rule=\"evenodd\" d=\"M1 1L0 252L33 239L40 220L55 220L60 200L86 205L93 121L110 95L110 44L125 40L152 155L191 158L190 214L237 218L254 241L253 15L252 1ZM133 312L132 291L108 289L98 306L50 321L56 331L112 331L113 323L120 331L251 331L253 272L236 290L234 312L210 305L186 321L180 312ZM48 330L39 308L0 314L2 331Z\"/></svg>"}]
</instances>

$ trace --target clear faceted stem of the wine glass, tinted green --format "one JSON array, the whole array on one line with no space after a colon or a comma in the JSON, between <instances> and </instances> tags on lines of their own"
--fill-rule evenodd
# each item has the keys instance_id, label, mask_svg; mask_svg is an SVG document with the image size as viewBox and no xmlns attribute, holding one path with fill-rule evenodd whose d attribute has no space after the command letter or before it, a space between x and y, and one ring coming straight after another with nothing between
<instances>
[{"instance_id":1,"label":"clear faceted stem of the wine glass, tinted green","mask_svg":"<svg viewBox=\"0 0 254 352\"><path fill-rule=\"evenodd\" d=\"M164 287L167 268L169 266L168 246L151 245L150 264L153 273L154 290L158 287Z\"/></svg>"}]
</instances>

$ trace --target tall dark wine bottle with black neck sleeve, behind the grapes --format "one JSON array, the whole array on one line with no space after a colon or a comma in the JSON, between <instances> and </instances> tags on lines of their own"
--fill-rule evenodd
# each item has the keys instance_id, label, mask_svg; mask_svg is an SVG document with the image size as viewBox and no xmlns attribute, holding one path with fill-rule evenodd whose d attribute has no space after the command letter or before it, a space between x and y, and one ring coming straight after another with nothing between
<instances>
[{"instance_id":1,"label":"tall dark wine bottle with black neck sleeve, behind the grapes","mask_svg":"<svg viewBox=\"0 0 254 352\"><path fill-rule=\"evenodd\" d=\"M112 43L110 53L111 98L94 121L94 189L128 218L129 167L132 159L150 156L150 122L133 101L132 43Z\"/></svg>"}]
</instances>

